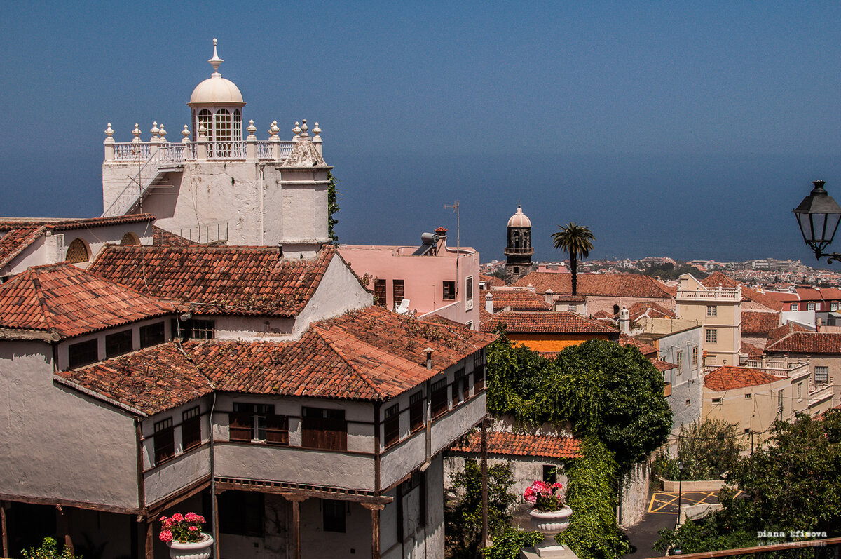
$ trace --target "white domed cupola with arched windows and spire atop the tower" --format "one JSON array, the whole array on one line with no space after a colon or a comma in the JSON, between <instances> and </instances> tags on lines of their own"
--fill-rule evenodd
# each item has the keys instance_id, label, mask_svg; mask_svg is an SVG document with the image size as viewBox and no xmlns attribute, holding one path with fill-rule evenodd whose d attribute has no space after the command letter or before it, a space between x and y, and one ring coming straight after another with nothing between
<instances>
[{"instance_id":1,"label":"white domed cupola with arched windows and spire atop the tower","mask_svg":"<svg viewBox=\"0 0 841 559\"><path fill-rule=\"evenodd\" d=\"M207 141L242 140L242 100L240 88L219 72L222 59L213 40L213 58L208 62L214 72L199 83L190 95L188 105L193 109L193 141L198 139L198 129L204 126Z\"/></svg>"}]
</instances>

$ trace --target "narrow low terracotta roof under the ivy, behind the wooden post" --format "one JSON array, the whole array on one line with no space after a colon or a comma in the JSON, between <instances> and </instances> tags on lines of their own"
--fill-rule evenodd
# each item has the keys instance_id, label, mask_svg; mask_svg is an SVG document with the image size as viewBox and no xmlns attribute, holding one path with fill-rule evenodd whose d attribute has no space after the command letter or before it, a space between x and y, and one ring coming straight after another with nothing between
<instances>
[{"instance_id":1,"label":"narrow low terracotta roof under the ivy, behind the wooden post","mask_svg":"<svg viewBox=\"0 0 841 559\"><path fill-rule=\"evenodd\" d=\"M450 450L478 454L482 445L481 437L479 430L474 430L454 443ZM488 431L489 455L563 459L579 457L579 450L578 439L569 436Z\"/></svg>"}]
</instances>

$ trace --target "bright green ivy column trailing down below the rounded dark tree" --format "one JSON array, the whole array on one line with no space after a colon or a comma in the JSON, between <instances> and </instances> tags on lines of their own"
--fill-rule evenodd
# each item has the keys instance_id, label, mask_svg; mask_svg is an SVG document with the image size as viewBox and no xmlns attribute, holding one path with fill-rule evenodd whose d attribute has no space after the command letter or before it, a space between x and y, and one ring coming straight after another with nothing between
<instances>
[{"instance_id":1,"label":"bright green ivy column trailing down below the rounded dark tree","mask_svg":"<svg viewBox=\"0 0 841 559\"><path fill-rule=\"evenodd\" d=\"M619 559L630 552L616 525L616 480L619 465L595 437L584 439L581 457L568 462L567 504L573 509L569 528L556 537L579 559Z\"/></svg>"}]
</instances>

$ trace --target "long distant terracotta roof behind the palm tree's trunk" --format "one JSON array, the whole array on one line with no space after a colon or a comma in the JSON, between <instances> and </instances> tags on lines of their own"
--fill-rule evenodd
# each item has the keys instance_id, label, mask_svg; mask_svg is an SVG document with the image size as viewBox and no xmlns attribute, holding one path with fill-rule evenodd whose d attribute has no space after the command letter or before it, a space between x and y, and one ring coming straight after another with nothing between
<instances>
[{"instance_id":1,"label":"long distant terracotta roof behind the palm tree's trunk","mask_svg":"<svg viewBox=\"0 0 841 559\"><path fill-rule=\"evenodd\" d=\"M553 290L555 293L572 293L572 274L532 272L518 279L514 285L532 285L537 293ZM676 290L657 279L641 274L578 274L579 295L605 297L646 297L672 299Z\"/></svg>"}]
</instances>

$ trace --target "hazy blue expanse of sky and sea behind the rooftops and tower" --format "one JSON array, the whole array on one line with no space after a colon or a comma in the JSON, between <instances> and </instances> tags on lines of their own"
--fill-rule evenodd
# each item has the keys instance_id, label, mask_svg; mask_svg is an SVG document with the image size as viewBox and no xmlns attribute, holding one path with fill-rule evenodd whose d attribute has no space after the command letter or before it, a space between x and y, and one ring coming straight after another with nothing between
<instances>
[{"instance_id":1,"label":"hazy blue expanse of sky and sea behind the rooftops and tower","mask_svg":"<svg viewBox=\"0 0 841 559\"><path fill-rule=\"evenodd\" d=\"M105 125L177 136L218 37L259 138L320 123L342 242L454 232L458 199L462 242L501 258L519 200L538 259L578 221L594 257L813 264L791 208L815 178L841 200L839 20L819 2L4 3L0 214L98 215Z\"/></svg>"}]
</instances>

